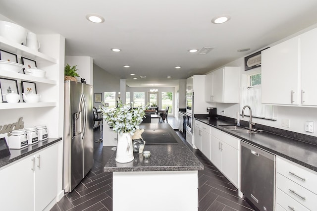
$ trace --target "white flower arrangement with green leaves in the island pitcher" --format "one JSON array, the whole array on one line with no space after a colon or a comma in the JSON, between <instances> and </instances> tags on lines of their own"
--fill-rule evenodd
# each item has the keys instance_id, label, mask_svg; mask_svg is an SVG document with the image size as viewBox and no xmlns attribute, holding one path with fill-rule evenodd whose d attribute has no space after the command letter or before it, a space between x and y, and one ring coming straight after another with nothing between
<instances>
[{"instance_id":1,"label":"white flower arrangement with green leaves in the island pitcher","mask_svg":"<svg viewBox=\"0 0 317 211\"><path fill-rule=\"evenodd\" d=\"M148 106L130 107L129 104L122 105L119 102L118 107L109 108L102 102L104 106L99 106L103 113L103 118L112 126L116 133L130 133L133 135L136 129L139 129L139 124L143 121L145 110ZM133 105L133 102L131 102Z\"/></svg>"}]
</instances>

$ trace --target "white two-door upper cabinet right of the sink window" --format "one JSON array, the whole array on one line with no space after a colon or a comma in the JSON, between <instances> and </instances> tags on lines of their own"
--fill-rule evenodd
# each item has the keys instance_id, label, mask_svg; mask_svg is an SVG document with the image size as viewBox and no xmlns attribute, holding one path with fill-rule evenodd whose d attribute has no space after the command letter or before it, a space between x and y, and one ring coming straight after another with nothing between
<instances>
[{"instance_id":1,"label":"white two-door upper cabinet right of the sink window","mask_svg":"<svg viewBox=\"0 0 317 211\"><path fill-rule=\"evenodd\" d=\"M317 106L317 29L262 52L262 103Z\"/></svg>"}]
</instances>

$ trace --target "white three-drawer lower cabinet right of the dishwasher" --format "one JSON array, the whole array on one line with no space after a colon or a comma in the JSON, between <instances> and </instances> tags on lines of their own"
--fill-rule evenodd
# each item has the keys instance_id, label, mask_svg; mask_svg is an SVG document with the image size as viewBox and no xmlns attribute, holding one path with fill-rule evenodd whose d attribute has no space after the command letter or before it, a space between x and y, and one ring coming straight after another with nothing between
<instances>
[{"instance_id":1,"label":"white three-drawer lower cabinet right of the dishwasher","mask_svg":"<svg viewBox=\"0 0 317 211\"><path fill-rule=\"evenodd\" d=\"M316 172L276 157L276 205L285 210L317 211L316 181Z\"/></svg>"}]
</instances>

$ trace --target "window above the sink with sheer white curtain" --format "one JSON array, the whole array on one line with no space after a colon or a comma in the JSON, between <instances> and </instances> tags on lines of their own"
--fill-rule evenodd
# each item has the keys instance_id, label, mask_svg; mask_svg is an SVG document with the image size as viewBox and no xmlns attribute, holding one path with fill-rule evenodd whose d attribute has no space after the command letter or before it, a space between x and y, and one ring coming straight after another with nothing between
<instances>
[{"instance_id":1,"label":"window above the sink with sheer white curtain","mask_svg":"<svg viewBox=\"0 0 317 211\"><path fill-rule=\"evenodd\" d=\"M250 74L246 86L241 87L240 112L246 105L252 109L252 116L264 119L276 119L274 106L265 105L261 102L261 73ZM250 115L249 109L245 110Z\"/></svg>"}]
</instances>

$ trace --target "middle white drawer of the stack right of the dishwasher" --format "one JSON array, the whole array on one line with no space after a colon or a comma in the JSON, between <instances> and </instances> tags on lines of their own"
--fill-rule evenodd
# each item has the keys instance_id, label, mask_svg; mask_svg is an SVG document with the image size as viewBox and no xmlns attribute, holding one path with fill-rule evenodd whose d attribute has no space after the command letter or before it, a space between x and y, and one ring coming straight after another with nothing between
<instances>
[{"instance_id":1,"label":"middle white drawer of the stack right of the dishwasher","mask_svg":"<svg viewBox=\"0 0 317 211\"><path fill-rule=\"evenodd\" d=\"M317 195L279 173L276 175L276 188L306 208L316 210Z\"/></svg>"}]
</instances>

